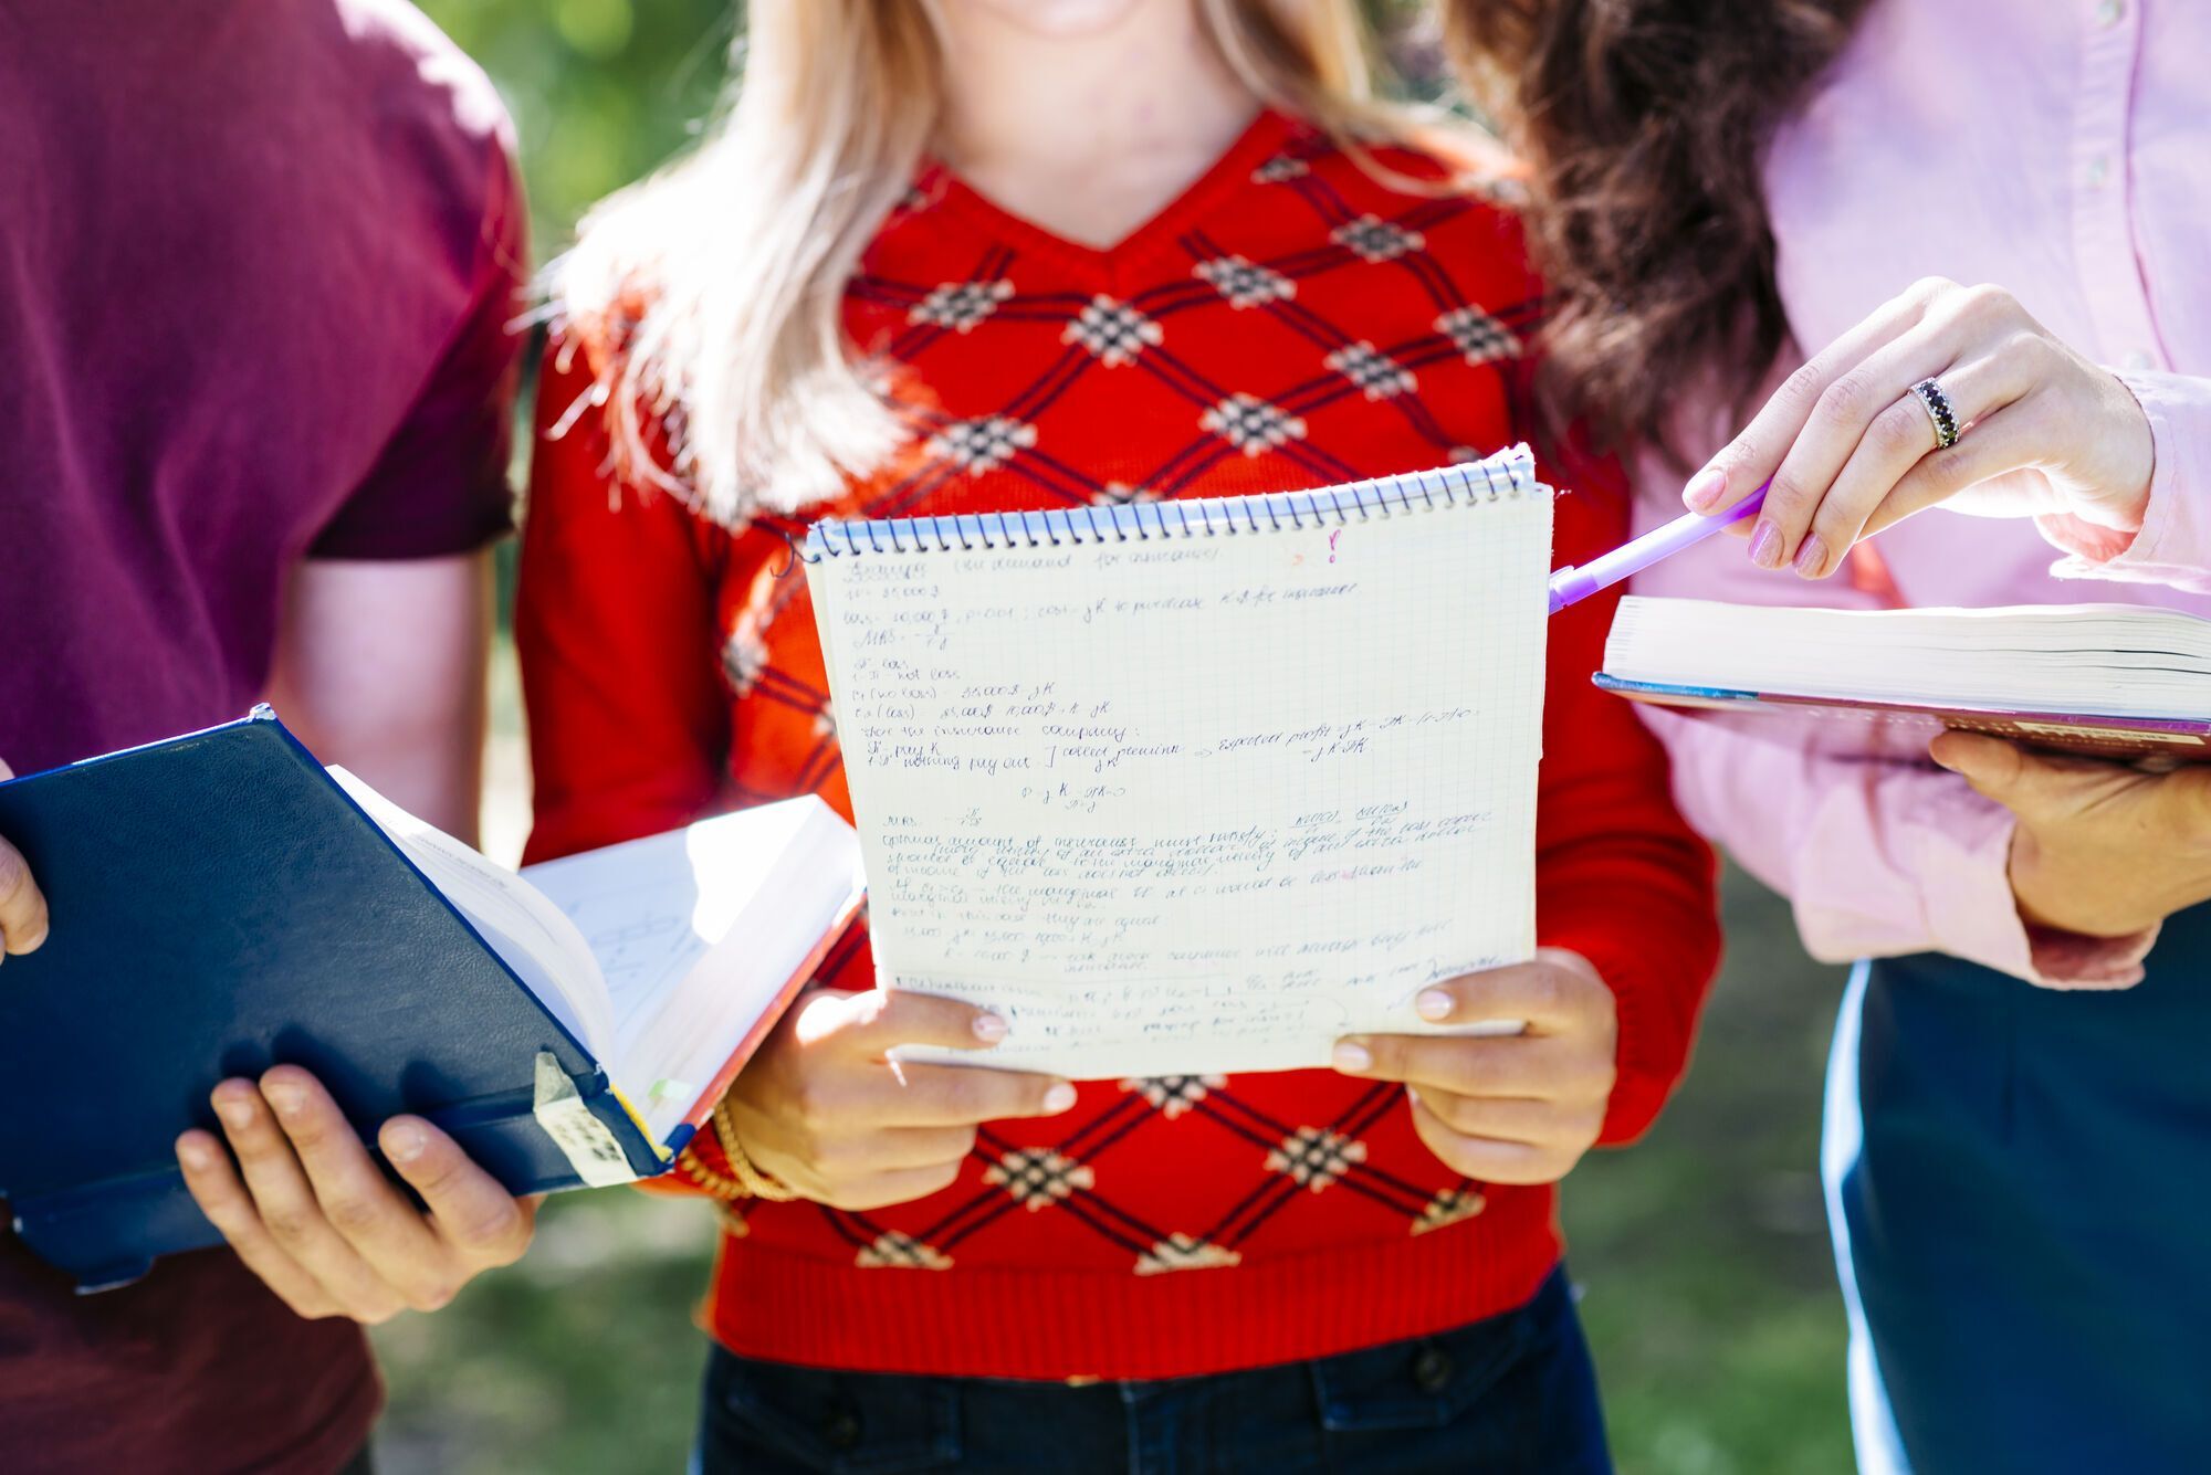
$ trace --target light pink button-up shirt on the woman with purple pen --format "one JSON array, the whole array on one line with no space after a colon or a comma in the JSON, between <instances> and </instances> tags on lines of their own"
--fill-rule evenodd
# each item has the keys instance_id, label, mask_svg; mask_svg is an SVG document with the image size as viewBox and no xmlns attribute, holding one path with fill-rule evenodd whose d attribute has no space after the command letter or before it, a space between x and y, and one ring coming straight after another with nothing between
<instances>
[{"instance_id":1,"label":"light pink button-up shirt on the woman with purple pen","mask_svg":"<svg viewBox=\"0 0 2211 1475\"><path fill-rule=\"evenodd\" d=\"M2149 413L2156 475L2129 550L2054 563L2030 521L1935 510L1875 541L1904 603L2211 614L2211 4L1879 0L1775 137L1767 201L1798 344L1831 342L1921 276L1997 283ZM1784 358L1778 373L1802 362L1798 349ZM1689 406L1685 424L1700 428L1700 453L1731 431L1709 406ZM1680 512L1678 473L1652 457L1638 481L1645 521ZM1756 570L1738 539L1636 590L1882 603L1853 587L1853 570L1826 583ZM2149 936L2027 936L2005 877L2012 819L1963 779L1667 713L1652 724L1683 810L1793 901L1815 956L1937 949L2050 985L2140 978Z\"/></svg>"}]
</instances>

